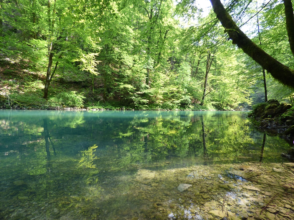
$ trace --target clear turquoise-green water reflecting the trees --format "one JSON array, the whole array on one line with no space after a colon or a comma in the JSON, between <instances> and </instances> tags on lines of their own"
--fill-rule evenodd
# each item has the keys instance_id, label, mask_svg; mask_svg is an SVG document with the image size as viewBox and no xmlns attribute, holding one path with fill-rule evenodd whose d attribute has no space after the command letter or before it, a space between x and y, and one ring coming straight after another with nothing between
<instances>
[{"instance_id":1,"label":"clear turquoise-green water reflecting the trees","mask_svg":"<svg viewBox=\"0 0 294 220\"><path fill-rule=\"evenodd\" d=\"M245 112L1 110L0 219L250 218L294 206L291 147Z\"/></svg>"}]
</instances>

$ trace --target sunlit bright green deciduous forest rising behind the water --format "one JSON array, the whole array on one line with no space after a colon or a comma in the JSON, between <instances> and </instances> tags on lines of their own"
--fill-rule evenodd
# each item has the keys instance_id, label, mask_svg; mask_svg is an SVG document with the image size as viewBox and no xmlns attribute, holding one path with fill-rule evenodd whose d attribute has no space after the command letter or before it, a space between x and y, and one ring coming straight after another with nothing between
<instances>
[{"instance_id":1,"label":"sunlit bright green deciduous forest rising behind the water","mask_svg":"<svg viewBox=\"0 0 294 220\"><path fill-rule=\"evenodd\" d=\"M0 0L0 106L292 105L293 52L290 0Z\"/></svg>"}]
</instances>

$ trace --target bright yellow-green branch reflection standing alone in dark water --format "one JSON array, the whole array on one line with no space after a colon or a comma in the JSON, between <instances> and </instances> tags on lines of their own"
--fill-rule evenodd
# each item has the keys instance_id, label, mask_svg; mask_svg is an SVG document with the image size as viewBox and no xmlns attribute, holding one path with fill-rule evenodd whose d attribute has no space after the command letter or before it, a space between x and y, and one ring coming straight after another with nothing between
<instances>
[{"instance_id":1,"label":"bright yellow-green branch reflection standing alone in dark water","mask_svg":"<svg viewBox=\"0 0 294 220\"><path fill-rule=\"evenodd\" d=\"M98 174L98 172L99 172L99 170L96 170L97 169L96 165L93 165L93 160L98 159L94 154L97 147L98 147L97 145L93 145L93 146L89 147L88 150L81 151L81 159L78 162L79 168L94 169L94 170L90 170L88 172L88 175L84 176L87 184L98 182L98 177L93 176L95 174Z\"/></svg>"}]
</instances>

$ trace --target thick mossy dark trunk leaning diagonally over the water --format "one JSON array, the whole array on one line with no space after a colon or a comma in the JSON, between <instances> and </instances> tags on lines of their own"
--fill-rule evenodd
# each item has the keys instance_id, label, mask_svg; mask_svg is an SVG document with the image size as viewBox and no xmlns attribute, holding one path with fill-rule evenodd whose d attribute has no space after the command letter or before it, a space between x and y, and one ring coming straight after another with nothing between
<instances>
[{"instance_id":1,"label":"thick mossy dark trunk leaning diagonally over the water","mask_svg":"<svg viewBox=\"0 0 294 220\"><path fill-rule=\"evenodd\" d=\"M244 53L256 61L263 69L267 70L273 78L284 85L294 88L294 70L283 65L264 50L253 43L233 21L230 14L225 10L220 0L210 0L216 17L220 20L225 32L228 33L233 44L241 48Z\"/></svg>"}]
</instances>

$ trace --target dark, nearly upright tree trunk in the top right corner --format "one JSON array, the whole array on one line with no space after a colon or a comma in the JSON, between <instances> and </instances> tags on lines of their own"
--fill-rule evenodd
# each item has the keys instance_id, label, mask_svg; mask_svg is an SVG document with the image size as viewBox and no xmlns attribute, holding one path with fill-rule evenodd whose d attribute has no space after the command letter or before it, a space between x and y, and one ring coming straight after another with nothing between
<instances>
[{"instance_id":1,"label":"dark, nearly upright tree trunk in the top right corner","mask_svg":"<svg viewBox=\"0 0 294 220\"><path fill-rule=\"evenodd\" d=\"M286 28L289 38L290 49L294 55L294 15L291 0L284 0Z\"/></svg>"}]
</instances>

